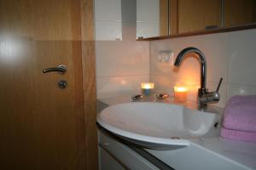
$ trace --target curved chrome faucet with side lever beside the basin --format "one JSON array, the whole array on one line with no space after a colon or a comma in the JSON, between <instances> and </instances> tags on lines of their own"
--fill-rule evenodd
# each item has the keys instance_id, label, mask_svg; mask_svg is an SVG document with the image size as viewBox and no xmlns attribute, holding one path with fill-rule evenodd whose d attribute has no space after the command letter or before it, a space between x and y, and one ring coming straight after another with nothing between
<instances>
[{"instance_id":1,"label":"curved chrome faucet with side lever beside the basin","mask_svg":"<svg viewBox=\"0 0 256 170\"><path fill-rule=\"evenodd\" d=\"M183 57L186 54L195 54L201 62L201 88L198 89L198 96L197 96L197 104L198 109L206 109L207 103L209 102L218 102L220 99L220 95L218 94L218 89L220 87L220 84L223 80L223 78L220 78L220 81L218 82L218 88L214 92L208 92L208 89L206 88L207 83L207 60L205 58L205 55L199 50L198 48L184 48L179 54L177 54L177 58L175 60L174 65L179 67L181 64Z\"/></svg>"}]
</instances>

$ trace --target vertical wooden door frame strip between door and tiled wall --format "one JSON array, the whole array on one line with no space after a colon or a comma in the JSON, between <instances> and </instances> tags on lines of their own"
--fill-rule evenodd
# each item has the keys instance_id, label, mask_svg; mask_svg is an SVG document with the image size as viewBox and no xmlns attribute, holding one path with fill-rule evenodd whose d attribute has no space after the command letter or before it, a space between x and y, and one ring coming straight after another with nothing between
<instances>
[{"instance_id":1,"label":"vertical wooden door frame strip between door and tiled wall","mask_svg":"<svg viewBox=\"0 0 256 170\"><path fill-rule=\"evenodd\" d=\"M82 0L81 34L84 85L84 122L86 169L98 169L96 132L96 54L94 41L93 0Z\"/></svg>"}]
</instances>

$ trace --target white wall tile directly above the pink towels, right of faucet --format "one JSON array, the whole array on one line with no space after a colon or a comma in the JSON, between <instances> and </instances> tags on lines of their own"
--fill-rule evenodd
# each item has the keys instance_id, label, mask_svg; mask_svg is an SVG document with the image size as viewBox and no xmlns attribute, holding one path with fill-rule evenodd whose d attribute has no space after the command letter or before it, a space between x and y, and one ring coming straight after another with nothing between
<instances>
[{"instance_id":1,"label":"white wall tile directly above the pink towels, right of faucet","mask_svg":"<svg viewBox=\"0 0 256 170\"><path fill-rule=\"evenodd\" d=\"M256 29L230 32L229 82L256 85Z\"/></svg>"}]
</instances>

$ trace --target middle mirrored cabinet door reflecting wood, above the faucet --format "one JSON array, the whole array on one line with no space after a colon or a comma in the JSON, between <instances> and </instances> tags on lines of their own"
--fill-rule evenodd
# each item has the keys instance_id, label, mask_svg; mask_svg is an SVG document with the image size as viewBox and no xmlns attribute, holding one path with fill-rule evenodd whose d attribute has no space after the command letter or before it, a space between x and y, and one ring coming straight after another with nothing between
<instances>
[{"instance_id":1,"label":"middle mirrored cabinet door reflecting wood, above the faucet","mask_svg":"<svg viewBox=\"0 0 256 170\"><path fill-rule=\"evenodd\" d=\"M221 0L178 0L178 33L221 26Z\"/></svg>"}]
</instances>

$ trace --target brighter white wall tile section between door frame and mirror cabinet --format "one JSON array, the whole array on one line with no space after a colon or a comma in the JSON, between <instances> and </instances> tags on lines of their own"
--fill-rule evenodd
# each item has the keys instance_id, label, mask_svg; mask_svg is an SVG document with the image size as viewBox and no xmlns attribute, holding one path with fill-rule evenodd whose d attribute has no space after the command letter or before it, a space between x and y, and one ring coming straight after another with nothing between
<instances>
[{"instance_id":1,"label":"brighter white wall tile section between door frame and mirror cabinet","mask_svg":"<svg viewBox=\"0 0 256 170\"><path fill-rule=\"evenodd\" d=\"M97 41L122 40L122 22L96 21L96 40Z\"/></svg>"}]
</instances>

